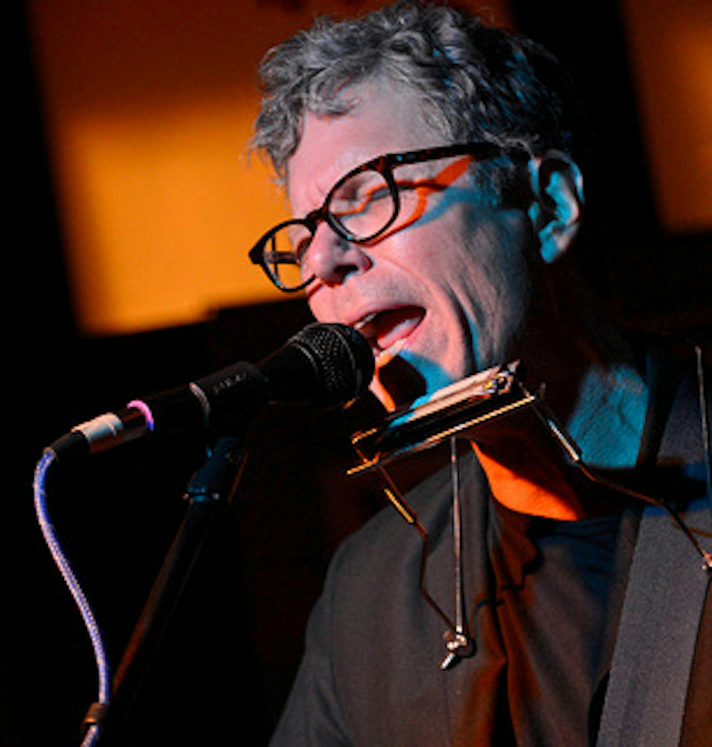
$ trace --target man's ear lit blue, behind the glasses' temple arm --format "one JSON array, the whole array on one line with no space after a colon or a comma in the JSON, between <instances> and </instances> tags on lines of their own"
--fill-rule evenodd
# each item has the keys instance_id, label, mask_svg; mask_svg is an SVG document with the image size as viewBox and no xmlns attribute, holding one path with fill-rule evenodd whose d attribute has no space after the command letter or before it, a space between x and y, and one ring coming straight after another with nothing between
<instances>
[{"instance_id":1,"label":"man's ear lit blue, behind the glasses' temple arm","mask_svg":"<svg viewBox=\"0 0 712 747\"><path fill-rule=\"evenodd\" d=\"M569 249L581 225L581 170L568 155L551 150L529 161L529 178L533 192L529 217L539 251L545 262L555 262Z\"/></svg>"}]
</instances>

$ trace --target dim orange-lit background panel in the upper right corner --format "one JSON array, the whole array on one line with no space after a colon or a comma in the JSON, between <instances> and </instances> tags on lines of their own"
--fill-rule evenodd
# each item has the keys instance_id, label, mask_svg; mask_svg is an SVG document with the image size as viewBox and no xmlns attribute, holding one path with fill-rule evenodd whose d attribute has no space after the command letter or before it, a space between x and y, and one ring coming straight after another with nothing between
<instances>
[{"instance_id":1,"label":"dim orange-lit background panel in the upper right corner","mask_svg":"<svg viewBox=\"0 0 712 747\"><path fill-rule=\"evenodd\" d=\"M622 0L657 210L712 227L712 2Z\"/></svg>"}]
</instances>

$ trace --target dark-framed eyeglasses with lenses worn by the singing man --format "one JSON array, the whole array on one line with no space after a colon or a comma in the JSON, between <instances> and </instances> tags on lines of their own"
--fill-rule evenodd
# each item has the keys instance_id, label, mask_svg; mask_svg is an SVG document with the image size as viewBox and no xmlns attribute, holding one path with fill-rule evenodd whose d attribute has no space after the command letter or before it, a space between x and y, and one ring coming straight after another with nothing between
<instances>
[{"instance_id":1,"label":"dark-framed eyeglasses with lenses worn by the singing man","mask_svg":"<svg viewBox=\"0 0 712 747\"><path fill-rule=\"evenodd\" d=\"M406 202L403 195L416 186L412 179L400 178L399 167L458 155L484 161L503 153L504 148L495 143L477 142L380 155L342 176L320 208L267 231L250 249L250 260L260 265L280 291L300 291L314 279L303 275L302 266L320 223L326 222L337 235L355 244L374 241L394 224ZM418 208L413 205L411 209L415 217Z\"/></svg>"}]
</instances>

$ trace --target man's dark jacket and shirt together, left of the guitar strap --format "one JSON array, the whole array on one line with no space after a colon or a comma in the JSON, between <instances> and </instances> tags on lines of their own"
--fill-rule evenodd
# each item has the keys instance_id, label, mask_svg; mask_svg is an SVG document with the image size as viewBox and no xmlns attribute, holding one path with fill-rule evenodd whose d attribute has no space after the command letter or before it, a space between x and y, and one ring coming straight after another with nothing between
<instances>
[{"instance_id":1,"label":"man's dark jacket and shirt together, left of the guitar strap","mask_svg":"<svg viewBox=\"0 0 712 747\"><path fill-rule=\"evenodd\" d=\"M445 626L418 593L421 543L388 509L332 563L275 746L589 744L637 512L581 522L507 512L472 456L462 492L474 656L439 670ZM447 471L409 498L432 540L426 586L452 613Z\"/></svg>"}]
</instances>

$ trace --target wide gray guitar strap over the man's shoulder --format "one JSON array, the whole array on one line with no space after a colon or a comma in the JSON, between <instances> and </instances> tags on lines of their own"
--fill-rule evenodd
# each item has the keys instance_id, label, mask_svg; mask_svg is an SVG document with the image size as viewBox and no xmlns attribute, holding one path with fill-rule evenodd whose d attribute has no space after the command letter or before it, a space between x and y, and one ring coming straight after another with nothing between
<instances>
[{"instance_id":1,"label":"wide gray guitar strap over the man's shoulder","mask_svg":"<svg viewBox=\"0 0 712 747\"><path fill-rule=\"evenodd\" d=\"M683 430L670 419L662 453ZM698 418L699 420L699 418ZM692 421L693 423L695 421ZM687 419L687 431L691 427ZM680 430L675 430L680 429ZM709 536L708 498L683 521ZM640 520L597 747L676 746L711 573L669 514L648 506Z\"/></svg>"}]
</instances>

